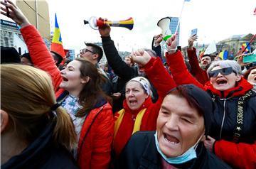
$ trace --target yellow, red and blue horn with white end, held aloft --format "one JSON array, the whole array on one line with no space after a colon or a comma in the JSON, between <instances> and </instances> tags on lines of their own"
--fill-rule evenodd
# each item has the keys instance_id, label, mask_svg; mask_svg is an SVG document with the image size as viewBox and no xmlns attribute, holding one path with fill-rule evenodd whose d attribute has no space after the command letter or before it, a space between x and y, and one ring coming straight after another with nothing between
<instances>
[{"instance_id":1,"label":"yellow, red and blue horn with white end, held aloft","mask_svg":"<svg viewBox=\"0 0 256 169\"><path fill-rule=\"evenodd\" d=\"M108 23L110 26L115 26L115 27L124 27L129 30L132 30L134 21L131 18L128 18L127 20L124 21L102 21L100 19L97 19L95 16L90 17L89 21L85 21L84 23L87 24L89 23L90 27L97 30L98 27L104 26L106 23Z\"/></svg>"}]
</instances>

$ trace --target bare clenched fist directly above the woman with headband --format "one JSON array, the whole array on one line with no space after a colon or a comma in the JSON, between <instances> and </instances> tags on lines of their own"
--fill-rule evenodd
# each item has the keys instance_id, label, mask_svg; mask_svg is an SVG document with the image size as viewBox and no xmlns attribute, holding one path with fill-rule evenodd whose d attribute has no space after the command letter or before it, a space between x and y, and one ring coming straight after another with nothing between
<instances>
[{"instance_id":1,"label":"bare clenched fist directly above the woman with headband","mask_svg":"<svg viewBox=\"0 0 256 169\"><path fill-rule=\"evenodd\" d=\"M145 50L137 50L131 54L131 58L133 62L136 62L139 67L143 67L147 62L151 59L151 55L147 53Z\"/></svg>"}]
</instances>

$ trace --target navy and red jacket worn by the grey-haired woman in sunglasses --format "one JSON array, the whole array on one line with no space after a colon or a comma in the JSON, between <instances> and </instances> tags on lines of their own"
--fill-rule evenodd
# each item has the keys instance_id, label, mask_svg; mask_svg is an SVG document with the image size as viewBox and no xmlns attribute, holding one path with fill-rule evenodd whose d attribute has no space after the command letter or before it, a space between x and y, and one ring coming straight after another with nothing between
<instances>
[{"instance_id":1,"label":"navy and red jacket worn by the grey-haired woman in sunglasses","mask_svg":"<svg viewBox=\"0 0 256 169\"><path fill-rule=\"evenodd\" d=\"M210 82L203 86L192 77L183 64L181 52L166 53L166 59L177 85L195 84L213 98L216 109L209 135L216 140L215 155L235 168L256 168L256 94L251 90L252 84L241 78L236 87L220 92ZM243 104L238 110L240 98Z\"/></svg>"}]
</instances>

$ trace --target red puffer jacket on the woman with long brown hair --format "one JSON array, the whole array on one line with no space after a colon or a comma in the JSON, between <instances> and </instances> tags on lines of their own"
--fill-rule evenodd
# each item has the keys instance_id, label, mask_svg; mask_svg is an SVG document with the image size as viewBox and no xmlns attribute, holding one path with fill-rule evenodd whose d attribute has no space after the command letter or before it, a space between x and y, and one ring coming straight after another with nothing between
<instances>
[{"instance_id":1,"label":"red puffer jacket on the woman with long brown hair","mask_svg":"<svg viewBox=\"0 0 256 169\"><path fill-rule=\"evenodd\" d=\"M63 79L40 34L31 25L21 28L21 34L28 46L33 64L49 73L53 80L55 96L59 97L65 91L59 88ZM80 168L109 168L113 136L114 117L110 104L92 109L82 126L78 142Z\"/></svg>"}]
</instances>

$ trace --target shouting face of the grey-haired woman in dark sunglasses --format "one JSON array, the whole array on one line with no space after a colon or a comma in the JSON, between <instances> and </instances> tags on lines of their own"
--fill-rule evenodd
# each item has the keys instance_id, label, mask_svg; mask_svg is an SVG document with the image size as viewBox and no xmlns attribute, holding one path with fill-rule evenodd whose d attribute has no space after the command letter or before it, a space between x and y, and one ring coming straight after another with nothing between
<instances>
[{"instance_id":1,"label":"shouting face of the grey-haired woman in dark sunglasses","mask_svg":"<svg viewBox=\"0 0 256 169\"><path fill-rule=\"evenodd\" d=\"M213 67L213 70L210 71L209 76L212 72L217 72L215 75L212 73L213 77L210 76L210 84L213 84L214 89L225 91L235 87L235 82L238 82L241 77L240 75L236 75L233 70L229 71L229 69L231 69L231 67L224 69L220 66Z\"/></svg>"}]
</instances>

